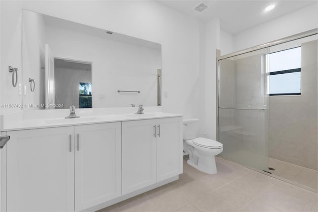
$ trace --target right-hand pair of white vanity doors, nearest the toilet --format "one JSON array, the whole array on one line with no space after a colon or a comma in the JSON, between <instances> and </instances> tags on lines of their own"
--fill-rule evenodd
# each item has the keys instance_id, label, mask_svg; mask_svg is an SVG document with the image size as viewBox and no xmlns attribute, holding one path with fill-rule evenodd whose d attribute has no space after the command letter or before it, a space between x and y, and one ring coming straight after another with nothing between
<instances>
[{"instance_id":1,"label":"right-hand pair of white vanity doors, nearest the toilet","mask_svg":"<svg viewBox=\"0 0 318 212\"><path fill-rule=\"evenodd\" d=\"M123 195L182 173L182 119L122 122Z\"/></svg>"}]
</instances>

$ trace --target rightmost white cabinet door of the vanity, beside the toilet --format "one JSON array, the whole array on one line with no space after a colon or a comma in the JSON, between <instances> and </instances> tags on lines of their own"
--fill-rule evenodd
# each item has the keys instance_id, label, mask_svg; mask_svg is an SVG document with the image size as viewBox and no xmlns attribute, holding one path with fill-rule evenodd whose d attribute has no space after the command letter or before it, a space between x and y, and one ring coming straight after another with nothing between
<instances>
[{"instance_id":1,"label":"rightmost white cabinet door of the vanity, beside the toilet","mask_svg":"<svg viewBox=\"0 0 318 212\"><path fill-rule=\"evenodd\" d=\"M157 124L157 182L182 173L182 119L160 118Z\"/></svg>"}]
</instances>

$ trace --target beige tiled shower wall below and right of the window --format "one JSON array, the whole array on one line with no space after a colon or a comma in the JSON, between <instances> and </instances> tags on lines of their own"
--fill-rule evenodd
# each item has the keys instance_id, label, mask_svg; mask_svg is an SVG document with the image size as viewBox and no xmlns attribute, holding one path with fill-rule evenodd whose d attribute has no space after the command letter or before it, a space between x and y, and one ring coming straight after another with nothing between
<instances>
[{"instance_id":1,"label":"beige tiled shower wall below and right of the window","mask_svg":"<svg viewBox=\"0 0 318 212\"><path fill-rule=\"evenodd\" d=\"M314 170L318 170L317 45L317 40L302 44L302 94L271 96L269 101L269 156Z\"/></svg>"}]
</instances>

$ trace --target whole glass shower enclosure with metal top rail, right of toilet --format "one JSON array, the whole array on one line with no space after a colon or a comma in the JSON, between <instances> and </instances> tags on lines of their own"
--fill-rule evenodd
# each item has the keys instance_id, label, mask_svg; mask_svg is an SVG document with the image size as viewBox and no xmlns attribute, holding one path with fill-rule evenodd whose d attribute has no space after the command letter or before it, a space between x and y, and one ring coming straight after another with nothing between
<instances>
[{"instance_id":1,"label":"whole glass shower enclosure with metal top rail, right of toilet","mask_svg":"<svg viewBox=\"0 0 318 212\"><path fill-rule=\"evenodd\" d=\"M221 157L318 191L317 54L313 29L217 58Z\"/></svg>"}]
</instances>

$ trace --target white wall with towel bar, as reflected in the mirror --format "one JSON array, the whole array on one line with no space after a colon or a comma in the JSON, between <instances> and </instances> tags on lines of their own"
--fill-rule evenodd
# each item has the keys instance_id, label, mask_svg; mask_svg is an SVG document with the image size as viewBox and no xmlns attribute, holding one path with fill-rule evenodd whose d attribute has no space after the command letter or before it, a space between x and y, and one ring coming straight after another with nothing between
<instances>
[{"instance_id":1,"label":"white wall with towel bar, as reflected in the mirror","mask_svg":"<svg viewBox=\"0 0 318 212\"><path fill-rule=\"evenodd\" d=\"M105 33L105 37L99 37L46 27L46 41L54 57L92 63L93 107L157 106L160 49L114 41L107 39L108 36L112 35ZM164 70L162 75L165 75ZM140 93L118 93L118 90ZM79 102L72 105L78 106Z\"/></svg>"}]
</instances>

